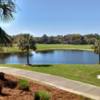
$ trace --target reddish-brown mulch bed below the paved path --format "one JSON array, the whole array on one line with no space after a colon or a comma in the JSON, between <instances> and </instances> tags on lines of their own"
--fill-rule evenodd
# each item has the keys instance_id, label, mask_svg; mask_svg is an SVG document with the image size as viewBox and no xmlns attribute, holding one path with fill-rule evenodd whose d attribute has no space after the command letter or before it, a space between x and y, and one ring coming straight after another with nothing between
<instances>
[{"instance_id":1,"label":"reddish-brown mulch bed below the paved path","mask_svg":"<svg viewBox=\"0 0 100 100\"><path fill-rule=\"evenodd\" d=\"M34 93L38 90L46 90L51 93L51 100L89 100L82 96L47 86L37 82L29 81L30 91L19 90L17 77L5 74L4 81L0 80L0 85L3 85L0 100L34 100ZM8 82L9 81L9 82ZM13 82L13 86L10 85Z\"/></svg>"}]
</instances>

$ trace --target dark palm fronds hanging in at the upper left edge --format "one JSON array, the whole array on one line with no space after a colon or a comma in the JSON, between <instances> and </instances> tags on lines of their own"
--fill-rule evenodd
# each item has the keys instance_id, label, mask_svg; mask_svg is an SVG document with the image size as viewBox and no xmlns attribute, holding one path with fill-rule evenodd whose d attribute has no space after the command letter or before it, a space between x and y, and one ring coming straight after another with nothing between
<instances>
[{"instance_id":1,"label":"dark palm fronds hanging in at the upper left edge","mask_svg":"<svg viewBox=\"0 0 100 100\"><path fill-rule=\"evenodd\" d=\"M15 4L12 0L0 0L0 19L3 21L9 21L13 18L15 12ZM6 32L0 28L0 45L8 44L11 42L11 38Z\"/></svg>"}]
</instances>

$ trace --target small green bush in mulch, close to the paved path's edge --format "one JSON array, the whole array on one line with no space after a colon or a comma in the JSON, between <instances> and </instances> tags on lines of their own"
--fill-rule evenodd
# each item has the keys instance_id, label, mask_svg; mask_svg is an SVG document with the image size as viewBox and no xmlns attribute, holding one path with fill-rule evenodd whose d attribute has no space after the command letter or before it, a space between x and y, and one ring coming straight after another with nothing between
<instances>
[{"instance_id":1,"label":"small green bush in mulch, close to the paved path's edge","mask_svg":"<svg viewBox=\"0 0 100 100\"><path fill-rule=\"evenodd\" d=\"M19 80L19 89L29 91L29 82L24 79Z\"/></svg>"}]
</instances>

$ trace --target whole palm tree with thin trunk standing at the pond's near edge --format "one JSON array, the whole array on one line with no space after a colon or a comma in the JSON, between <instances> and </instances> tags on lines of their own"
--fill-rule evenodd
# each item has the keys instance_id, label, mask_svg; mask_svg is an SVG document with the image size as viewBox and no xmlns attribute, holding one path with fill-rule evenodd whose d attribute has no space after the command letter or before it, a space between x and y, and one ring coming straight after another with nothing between
<instances>
[{"instance_id":1,"label":"whole palm tree with thin trunk standing at the pond's near edge","mask_svg":"<svg viewBox=\"0 0 100 100\"><path fill-rule=\"evenodd\" d=\"M36 50L36 45L33 37L29 34L24 34L24 37L19 41L18 47L27 54L27 64L30 65L30 50Z\"/></svg>"}]
</instances>

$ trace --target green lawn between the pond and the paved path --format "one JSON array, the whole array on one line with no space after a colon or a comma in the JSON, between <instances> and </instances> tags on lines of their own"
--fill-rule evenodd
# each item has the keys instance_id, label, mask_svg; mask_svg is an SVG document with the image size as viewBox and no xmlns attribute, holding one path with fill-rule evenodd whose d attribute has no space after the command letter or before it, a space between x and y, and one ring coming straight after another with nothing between
<instances>
[{"instance_id":1,"label":"green lawn between the pond and the paved path","mask_svg":"<svg viewBox=\"0 0 100 100\"><path fill-rule=\"evenodd\" d=\"M100 65L0 65L21 68L31 71L53 74L85 83L100 86L100 79L96 76L100 74Z\"/></svg>"}]
</instances>

